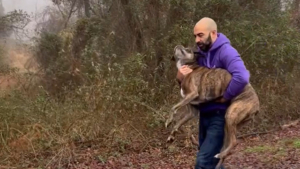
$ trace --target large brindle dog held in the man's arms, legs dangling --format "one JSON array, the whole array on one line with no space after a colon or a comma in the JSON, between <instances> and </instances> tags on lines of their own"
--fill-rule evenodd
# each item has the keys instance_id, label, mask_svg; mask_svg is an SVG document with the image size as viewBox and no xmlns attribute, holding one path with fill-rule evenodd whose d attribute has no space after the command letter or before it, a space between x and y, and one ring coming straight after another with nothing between
<instances>
[{"instance_id":1,"label":"large brindle dog held in the man's arms, legs dangling","mask_svg":"<svg viewBox=\"0 0 300 169\"><path fill-rule=\"evenodd\" d=\"M189 65L193 71L186 75L181 81L181 96L183 99L172 108L169 119L167 119L165 126L168 127L174 119L177 110L183 106L198 105L209 101L215 101L221 98L227 89L227 86L232 78L231 74L225 69L214 68L209 69L199 66L197 64L197 57L195 53L188 48L177 45L175 48L174 59L177 68L182 65ZM215 158L220 158L216 169L219 169L224 159L229 155L231 149L237 144L236 134L237 129L246 122L252 120L259 112L260 103L259 98L251 86L247 84L243 91L230 101L230 106L225 115L225 138L222 150ZM175 132L197 115L195 109L190 109L185 116L176 121L172 128L168 141L174 139Z\"/></svg>"}]
</instances>

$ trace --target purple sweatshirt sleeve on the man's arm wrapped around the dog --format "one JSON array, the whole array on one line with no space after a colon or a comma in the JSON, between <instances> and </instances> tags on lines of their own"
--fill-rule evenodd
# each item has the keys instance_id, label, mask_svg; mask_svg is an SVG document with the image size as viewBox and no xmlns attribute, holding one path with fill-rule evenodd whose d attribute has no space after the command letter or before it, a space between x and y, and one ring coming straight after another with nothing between
<instances>
[{"instance_id":1,"label":"purple sweatshirt sleeve on the man's arm wrapped around the dog","mask_svg":"<svg viewBox=\"0 0 300 169\"><path fill-rule=\"evenodd\" d=\"M223 96L226 100L231 100L239 95L249 83L250 73L237 50L231 46L226 46L220 60L224 65L224 69L232 75L232 79Z\"/></svg>"}]
</instances>

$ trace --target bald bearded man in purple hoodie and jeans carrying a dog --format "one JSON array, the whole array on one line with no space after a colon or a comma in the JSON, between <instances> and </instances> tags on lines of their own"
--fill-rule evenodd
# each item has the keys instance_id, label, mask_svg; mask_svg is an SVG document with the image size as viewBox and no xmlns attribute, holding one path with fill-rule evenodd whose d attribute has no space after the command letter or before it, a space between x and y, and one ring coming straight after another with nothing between
<instances>
[{"instance_id":1,"label":"bald bearded man in purple hoodie and jeans carrying a dog","mask_svg":"<svg viewBox=\"0 0 300 169\"><path fill-rule=\"evenodd\" d=\"M198 64L208 68L223 68L232 74L232 80L222 99L199 105L199 151L195 168L214 169L219 161L214 156L223 146L226 109L230 100L240 94L249 82L250 74L229 39L217 32L214 20L205 17L198 21L194 27L194 36L199 52L204 56L199 57ZM176 78L181 81L191 72L190 68L182 66Z\"/></svg>"}]
</instances>

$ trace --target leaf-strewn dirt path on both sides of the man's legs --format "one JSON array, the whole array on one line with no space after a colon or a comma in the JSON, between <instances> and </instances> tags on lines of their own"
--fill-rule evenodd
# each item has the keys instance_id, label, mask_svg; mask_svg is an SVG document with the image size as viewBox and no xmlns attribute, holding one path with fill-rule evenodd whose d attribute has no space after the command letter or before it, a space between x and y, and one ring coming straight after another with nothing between
<instances>
[{"instance_id":1,"label":"leaf-strewn dirt path on both sides of the man's legs","mask_svg":"<svg viewBox=\"0 0 300 169\"><path fill-rule=\"evenodd\" d=\"M86 150L84 162L70 168L93 169L189 169L194 166L195 148L152 148L148 151L115 154L107 159ZM89 159L89 160L87 160ZM300 124L278 132L239 140L235 153L225 162L227 169L299 169Z\"/></svg>"}]
</instances>

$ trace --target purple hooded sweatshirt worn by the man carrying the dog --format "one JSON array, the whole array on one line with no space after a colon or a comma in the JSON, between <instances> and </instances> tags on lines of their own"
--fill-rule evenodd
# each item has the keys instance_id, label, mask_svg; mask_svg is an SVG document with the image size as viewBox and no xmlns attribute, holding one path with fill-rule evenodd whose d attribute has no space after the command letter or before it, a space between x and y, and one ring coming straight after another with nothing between
<instances>
[{"instance_id":1,"label":"purple hooded sweatshirt worn by the man carrying the dog","mask_svg":"<svg viewBox=\"0 0 300 169\"><path fill-rule=\"evenodd\" d=\"M249 83L250 73L246 69L240 54L230 44L230 40L222 33L218 33L216 41L208 52L204 53L205 57L199 57L198 64L208 68L222 68L232 75L227 90L224 94L226 100L231 100L242 92L244 87ZM206 103L200 105L201 112L214 111L216 109L227 109L229 104L224 103Z\"/></svg>"}]
</instances>

